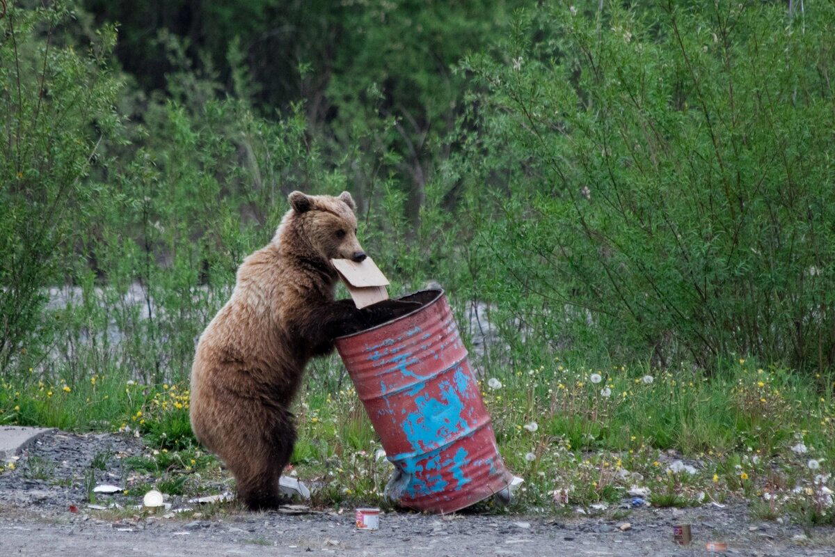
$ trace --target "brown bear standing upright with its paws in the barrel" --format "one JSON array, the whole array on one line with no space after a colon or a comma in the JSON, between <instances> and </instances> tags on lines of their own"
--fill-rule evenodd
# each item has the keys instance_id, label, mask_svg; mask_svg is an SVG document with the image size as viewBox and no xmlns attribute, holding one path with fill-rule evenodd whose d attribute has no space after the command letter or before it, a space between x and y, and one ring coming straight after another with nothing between
<instances>
[{"instance_id":1,"label":"brown bear standing upright with its paws in the barrel","mask_svg":"<svg viewBox=\"0 0 835 557\"><path fill-rule=\"evenodd\" d=\"M306 363L331 352L340 334L414 309L387 301L357 310L350 300L334 301L330 260L366 257L354 200L347 191L294 191L288 199L291 210L272 241L238 269L191 368L191 427L230 468L250 509L281 503L278 479L296 441L289 408Z\"/></svg>"}]
</instances>

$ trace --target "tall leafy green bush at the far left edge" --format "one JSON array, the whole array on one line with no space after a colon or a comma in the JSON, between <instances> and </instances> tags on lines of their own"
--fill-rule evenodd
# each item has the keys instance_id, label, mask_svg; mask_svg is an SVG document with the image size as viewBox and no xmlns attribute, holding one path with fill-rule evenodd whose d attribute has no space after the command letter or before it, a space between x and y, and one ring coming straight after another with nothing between
<instances>
[{"instance_id":1,"label":"tall leafy green bush at the far left edge","mask_svg":"<svg viewBox=\"0 0 835 557\"><path fill-rule=\"evenodd\" d=\"M48 335L44 287L69 277L78 223L100 190L89 176L101 143L119 130L119 78L109 70L116 34L104 27L85 53L63 43L64 3L25 10L3 3L0 21L0 371Z\"/></svg>"}]
</instances>

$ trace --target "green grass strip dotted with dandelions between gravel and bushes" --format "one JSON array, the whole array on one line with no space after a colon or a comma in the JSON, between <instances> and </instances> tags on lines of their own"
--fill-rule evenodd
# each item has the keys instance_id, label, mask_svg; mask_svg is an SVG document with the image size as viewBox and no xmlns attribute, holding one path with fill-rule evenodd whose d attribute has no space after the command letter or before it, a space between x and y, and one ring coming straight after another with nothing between
<instances>
[{"instance_id":1,"label":"green grass strip dotted with dandelions between gravel and bushes","mask_svg":"<svg viewBox=\"0 0 835 557\"><path fill-rule=\"evenodd\" d=\"M336 360L325 362L338 371ZM595 375L600 382L593 382ZM502 386L488 387L491 377ZM817 379L819 384L811 385L787 370L744 361L713 377L555 361L551 367L491 374L483 378L482 390L505 462L526 480L515 510L563 512L554 498L562 490L569 493L569 509L616 504L638 485L650 489L648 500L659 507L744 498L764 517L791 513L804 524L827 524L831 511L820 499L830 480L817 475L835 461L835 432L831 383ZM314 504L388 508L382 491L391 468L378 454L382 445L356 392L352 387L324 392L320 385L309 377L296 408L299 441L291 459L296 473L321 485ZM111 431L138 430L149 450L124 459L126 469L149 477L147 485L133 486L137 493L156 487L167 494L196 494L202 488L190 481L195 472L220 471L190 431L185 384L99 377L68 391L63 384L37 380L5 387L0 392L5 423L78 430L108 423L105 429ZM83 413L74 413L81 407ZM531 423L537 427L525 428ZM807 453L793 452L801 442ZM102 468L110 456L97 455L92 468ZM694 474L673 473L668 467L677 458L701 464ZM809 459L820 460L820 468L807 468ZM48 475L45 466L29 465L33 473ZM763 507L763 494L772 493L787 498Z\"/></svg>"}]
</instances>

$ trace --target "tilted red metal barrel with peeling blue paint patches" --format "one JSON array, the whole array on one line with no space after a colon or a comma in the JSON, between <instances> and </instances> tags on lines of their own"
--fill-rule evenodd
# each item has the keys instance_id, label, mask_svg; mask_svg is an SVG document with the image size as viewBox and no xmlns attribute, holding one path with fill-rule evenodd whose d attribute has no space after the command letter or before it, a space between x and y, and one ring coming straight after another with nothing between
<instances>
[{"instance_id":1,"label":"tilted red metal barrel with peeling blue paint patches","mask_svg":"<svg viewBox=\"0 0 835 557\"><path fill-rule=\"evenodd\" d=\"M490 416L443 291L423 306L337 338L337 350L398 478L393 499L451 513L508 487Z\"/></svg>"}]
</instances>

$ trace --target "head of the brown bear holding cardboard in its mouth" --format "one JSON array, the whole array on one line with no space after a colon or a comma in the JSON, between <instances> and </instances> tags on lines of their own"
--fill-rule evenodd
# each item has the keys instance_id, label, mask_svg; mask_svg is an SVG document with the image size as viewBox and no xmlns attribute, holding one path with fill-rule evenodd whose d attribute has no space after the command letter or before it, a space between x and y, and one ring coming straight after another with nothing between
<instances>
[{"instance_id":1,"label":"head of the brown bear holding cardboard in its mouth","mask_svg":"<svg viewBox=\"0 0 835 557\"><path fill-rule=\"evenodd\" d=\"M360 262L366 258L357 240L357 205L347 191L337 197L306 195L294 191L288 197L291 210L287 212L282 229L296 236L306 251L312 251L325 261L350 259ZM281 241L281 238L279 238Z\"/></svg>"}]
</instances>

